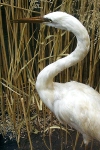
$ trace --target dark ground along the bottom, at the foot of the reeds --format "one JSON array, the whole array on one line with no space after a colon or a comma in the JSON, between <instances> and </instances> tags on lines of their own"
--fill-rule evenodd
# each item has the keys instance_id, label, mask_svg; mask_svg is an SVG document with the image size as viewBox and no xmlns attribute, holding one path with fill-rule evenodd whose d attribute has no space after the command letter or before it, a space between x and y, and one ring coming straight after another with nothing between
<instances>
[{"instance_id":1,"label":"dark ground along the bottom, at the foot of the reeds","mask_svg":"<svg viewBox=\"0 0 100 150\"><path fill-rule=\"evenodd\" d=\"M73 150L73 146L75 144L76 139L76 131L71 131L71 135L67 136L67 145L66 145L66 135L62 130L55 130L52 135L43 134L32 134L31 135L32 144L34 150L48 150L50 149L50 141L51 141L51 149L52 150ZM48 148L46 147L48 146ZM30 150L30 144L28 141L27 134L24 138L20 140L20 148L18 148L16 139L10 140L7 136L5 138L0 135L0 150ZM85 150L84 144L82 145L82 135L79 136L77 141L76 150ZM88 150L100 150L100 143L94 141L93 143L89 143Z\"/></svg>"}]
</instances>

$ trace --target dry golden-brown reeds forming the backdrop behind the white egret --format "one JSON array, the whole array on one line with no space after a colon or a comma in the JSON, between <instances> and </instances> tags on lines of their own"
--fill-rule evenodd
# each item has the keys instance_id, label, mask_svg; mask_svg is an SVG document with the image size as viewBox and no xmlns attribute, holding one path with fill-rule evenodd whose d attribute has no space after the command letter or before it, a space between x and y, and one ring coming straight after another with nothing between
<instances>
[{"instance_id":1,"label":"dry golden-brown reeds forming the backdrop behind the white egret","mask_svg":"<svg viewBox=\"0 0 100 150\"><path fill-rule=\"evenodd\" d=\"M19 144L21 133L27 132L31 150L34 147L30 137L33 132L42 131L51 135L51 131L56 128L63 128L68 140L69 127L62 127L42 103L35 89L35 81L45 66L74 50L76 38L72 33L43 24L12 24L11 20L57 10L74 15L84 24L90 35L91 46L82 62L64 70L54 80L79 81L100 92L99 0L0 2L0 133L5 135L9 131L13 132ZM73 149L77 140L78 133L72 143ZM51 140L49 149L52 149Z\"/></svg>"}]
</instances>

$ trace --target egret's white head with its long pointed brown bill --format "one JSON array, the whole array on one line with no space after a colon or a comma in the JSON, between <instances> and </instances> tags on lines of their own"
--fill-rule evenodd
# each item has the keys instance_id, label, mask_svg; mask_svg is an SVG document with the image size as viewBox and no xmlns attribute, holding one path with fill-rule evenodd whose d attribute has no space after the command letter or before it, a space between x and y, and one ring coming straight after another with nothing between
<instances>
[{"instance_id":1,"label":"egret's white head with its long pointed brown bill","mask_svg":"<svg viewBox=\"0 0 100 150\"><path fill-rule=\"evenodd\" d=\"M45 23L48 26L52 26L59 29L65 29L66 25L70 27L70 21L71 15L56 11L49 14L46 14L44 16L38 16L38 17L32 17L32 18L22 18L22 19L16 19L12 22L15 23ZM74 18L74 17L73 17Z\"/></svg>"}]
</instances>

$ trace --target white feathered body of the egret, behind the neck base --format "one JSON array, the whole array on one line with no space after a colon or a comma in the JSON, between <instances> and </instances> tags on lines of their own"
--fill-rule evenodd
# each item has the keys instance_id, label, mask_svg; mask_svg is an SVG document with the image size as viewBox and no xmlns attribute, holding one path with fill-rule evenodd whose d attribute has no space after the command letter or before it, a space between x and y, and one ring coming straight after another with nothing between
<instances>
[{"instance_id":1,"label":"white feathered body of the egret, behind the neck base","mask_svg":"<svg viewBox=\"0 0 100 150\"><path fill-rule=\"evenodd\" d=\"M100 141L100 94L75 81L54 85L54 113L60 122Z\"/></svg>"}]
</instances>

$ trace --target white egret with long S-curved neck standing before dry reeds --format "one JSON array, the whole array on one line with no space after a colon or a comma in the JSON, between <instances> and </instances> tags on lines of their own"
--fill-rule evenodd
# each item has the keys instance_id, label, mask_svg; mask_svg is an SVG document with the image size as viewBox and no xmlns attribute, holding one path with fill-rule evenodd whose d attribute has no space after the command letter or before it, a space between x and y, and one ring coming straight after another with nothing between
<instances>
[{"instance_id":1,"label":"white egret with long S-curved neck standing before dry reeds","mask_svg":"<svg viewBox=\"0 0 100 150\"><path fill-rule=\"evenodd\" d=\"M69 30L75 34L75 50L67 57L45 67L37 77L36 89L42 101L61 123L68 124L83 135L84 144L87 145L91 139L100 141L100 94L79 82L53 82L58 73L75 65L87 55L90 39L86 28L75 17L60 11L14 22L44 22L48 26Z\"/></svg>"}]
</instances>

